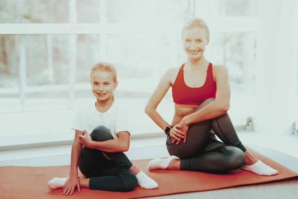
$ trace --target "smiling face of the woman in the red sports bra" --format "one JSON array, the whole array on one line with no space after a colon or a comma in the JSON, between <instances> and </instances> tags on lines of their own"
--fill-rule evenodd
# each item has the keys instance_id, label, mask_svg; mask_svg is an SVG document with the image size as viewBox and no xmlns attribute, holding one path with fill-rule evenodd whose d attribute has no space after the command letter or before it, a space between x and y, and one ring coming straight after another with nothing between
<instances>
[{"instance_id":1,"label":"smiling face of the woman in the red sports bra","mask_svg":"<svg viewBox=\"0 0 298 199\"><path fill-rule=\"evenodd\" d=\"M207 30L204 27L194 27L183 31L183 49L191 59L200 58L209 43Z\"/></svg>"}]
</instances>

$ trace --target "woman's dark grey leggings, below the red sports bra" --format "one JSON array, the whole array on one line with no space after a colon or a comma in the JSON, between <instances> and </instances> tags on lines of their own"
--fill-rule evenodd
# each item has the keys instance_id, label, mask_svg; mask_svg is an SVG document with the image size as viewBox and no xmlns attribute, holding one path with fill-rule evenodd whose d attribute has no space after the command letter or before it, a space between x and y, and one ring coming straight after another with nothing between
<instances>
[{"instance_id":1,"label":"woman's dark grey leggings, below the red sports bra","mask_svg":"<svg viewBox=\"0 0 298 199\"><path fill-rule=\"evenodd\" d=\"M214 98L205 100L200 110ZM215 134L224 142L216 139ZM176 145L167 136L166 146L170 155L181 159L180 169L208 173L226 172L239 169L245 159L245 147L239 140L227 113L191 124L186 134L186 142Z\"/></svg>"}]
</instances>

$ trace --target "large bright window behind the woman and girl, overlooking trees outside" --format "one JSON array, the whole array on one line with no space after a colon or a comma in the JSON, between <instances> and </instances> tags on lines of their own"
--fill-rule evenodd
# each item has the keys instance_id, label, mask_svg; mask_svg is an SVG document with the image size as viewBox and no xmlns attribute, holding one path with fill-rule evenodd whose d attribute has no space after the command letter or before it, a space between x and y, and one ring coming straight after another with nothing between
<instances>
[{"instance_id":1,"label":"large bright window behind the woman and girl, overlooking trees outside","mask_svg":"<svg viewBox=\"0 0 298 199\"><path fill-rule=\"evenodd\" d=\"M162 74L185 61L181 29L194 16L210 26L206 56L228 68L229 114L234 125L245 125L253 115L256 4L255 0L2 0L0 121L5 122L0 136L62 132L73 139L69 125L76 109L94 100L89 70L97 61L117 68L115 98L129 109L134 133L161 132L144 107ZM171 91L158 111L171 121Z\"/></svg>"}]
</instances>

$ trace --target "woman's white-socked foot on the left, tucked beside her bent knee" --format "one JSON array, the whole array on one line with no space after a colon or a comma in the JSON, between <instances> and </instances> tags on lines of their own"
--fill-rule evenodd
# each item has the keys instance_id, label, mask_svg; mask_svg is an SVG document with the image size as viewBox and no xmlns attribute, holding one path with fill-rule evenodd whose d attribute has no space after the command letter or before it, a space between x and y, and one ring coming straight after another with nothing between
<instances>
[{"instance_id":1,"label":"woman's white-socked foot on the left, tucked beside her bent knee","mask_svg":"<svg viewBox=\"0 0 298 199\"><path fill-rule=\"evenodd\" d=\"M166 159L155 158L148 164L148 170L167 169L167 170L180 170L180 158L177 156L170 156Z\"/></svg>"}]
</instances>

